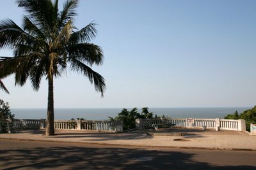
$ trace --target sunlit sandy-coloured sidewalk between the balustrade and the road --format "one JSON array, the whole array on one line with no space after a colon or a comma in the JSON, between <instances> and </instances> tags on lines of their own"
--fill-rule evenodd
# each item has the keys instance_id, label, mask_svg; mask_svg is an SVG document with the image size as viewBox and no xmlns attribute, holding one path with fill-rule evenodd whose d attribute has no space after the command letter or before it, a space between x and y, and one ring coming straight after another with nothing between
<instances>
[{"instance_id":1,"label":"sunlit sandy-coloured sidewalk between the balustrade and the road","mask_svg":"<svg viewBox=\"0 0 256 170\"><path fill-rule=\"evenodd\" d=\"M43 134L44 131L41 130L27 130L12 134L0 134L0 139L256 151L256 136L237 131L216 132L175 128L159 129L159 131L136 130L124 133L56 131L56 136L44 136ZM184 136L179 136L180 134Z\"/></svg>"}]
</instances>

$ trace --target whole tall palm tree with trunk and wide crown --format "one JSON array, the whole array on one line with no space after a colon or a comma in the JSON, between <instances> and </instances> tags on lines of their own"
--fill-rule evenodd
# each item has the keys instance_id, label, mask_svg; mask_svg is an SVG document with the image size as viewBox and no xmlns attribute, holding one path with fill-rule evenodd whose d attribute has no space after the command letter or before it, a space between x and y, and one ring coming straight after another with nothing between
<instances>
[{"instance_id":1,"label":"whole tall palm tree with trunk and wide crown","mask_svg":"<svg viewBox=\"0 0 256 170\"><path fill-rule=\"evenodd\" d=\"M97 30L92 22L81 30L74 27L78 0L67 0L58 10L58 0L17 0L24 8L22 27L10 19L0 21L0 48L11 48L13 57L1 57L0 78L15 74L15 85L31 80L38 90L40 81L48 81L47 125L45 135L54 135L54 78L69 67L87 76L102 97L104 78L91 68L103 62L100 46L90 43ZM91 67L90 67L91 66Z\"/></svg>"}]
</instances>

